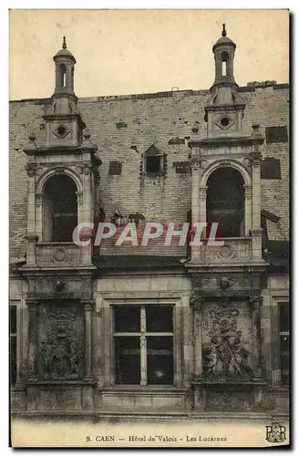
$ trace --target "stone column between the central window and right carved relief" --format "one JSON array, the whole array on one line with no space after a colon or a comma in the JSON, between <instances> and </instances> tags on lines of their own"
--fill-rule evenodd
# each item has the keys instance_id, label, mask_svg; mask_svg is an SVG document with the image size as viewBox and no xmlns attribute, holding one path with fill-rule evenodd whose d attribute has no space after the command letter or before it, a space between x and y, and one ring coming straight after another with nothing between
<instances>
[{"instance_id":1,"label":"stone column between the central window and right carved relief","mask_svg":"<svg viewBox=\"0 0 298 456\"><path fill-rule=\"evenodd\" d=\"M202 378L203 364L201 352L201 326L202 326L202 308L204 305L204 298L199 295L200 290L194 288L193 294L190 298L190 305L193 310L193 352L194 352L194 378Z\"/></svg>"}]
</instances>

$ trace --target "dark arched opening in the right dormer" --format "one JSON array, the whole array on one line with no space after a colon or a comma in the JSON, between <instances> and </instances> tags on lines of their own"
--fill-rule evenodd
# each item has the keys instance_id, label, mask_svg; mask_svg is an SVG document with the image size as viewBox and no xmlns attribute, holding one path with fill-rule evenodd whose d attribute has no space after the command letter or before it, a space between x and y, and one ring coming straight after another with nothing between
<instances>
[{"instance_id":1,"label":"dark arched opening in the right dormer","mask_svg":"<svg viewBox=\"0 0 298 456\"><path fill-rule=\"evenodd\" d=\"M219 223L218 237L244 235L244 181L239 171L219 168L207 181L207 223Z\"/></svg>"}]
</instances>

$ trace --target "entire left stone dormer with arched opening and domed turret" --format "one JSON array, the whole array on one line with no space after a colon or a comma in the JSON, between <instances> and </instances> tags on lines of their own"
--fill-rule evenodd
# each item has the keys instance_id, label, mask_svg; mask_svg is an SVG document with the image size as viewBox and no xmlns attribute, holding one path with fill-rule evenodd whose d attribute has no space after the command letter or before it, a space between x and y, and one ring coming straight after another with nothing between
<instances>
[{"instance_id":1,"label":"entire left stone dormer with arched opening and domed turret","mask_svg":"<svg viewBox=\"0 0 298 456\"><path fill-rule=\"evenodd\" d=\"M97 207L101 163L77 109L75 57L62 49L54 57L56 87L46 107L46 138L30 133L25 148L28 174L27 267L92 265L92 246L77 245L78 228L87 223L88 239ZM75 237L74 237L75 236ZM85 236L85 237L86 237Z\"/></svg>"}]
</instances>

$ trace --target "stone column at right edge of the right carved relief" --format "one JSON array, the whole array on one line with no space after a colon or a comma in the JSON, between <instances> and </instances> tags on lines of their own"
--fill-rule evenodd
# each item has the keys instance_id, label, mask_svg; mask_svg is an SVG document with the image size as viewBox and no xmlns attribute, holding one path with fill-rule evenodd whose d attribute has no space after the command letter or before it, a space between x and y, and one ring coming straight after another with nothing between
<instances>
[{"instance_id":1,"label":"stone column at right edge of the right carved relief","mask_svg":"<svg viewBox=\"0 0 298 456\"><path fill-rule=\"evenodd\" d=\"M253 357L253 379L262 378L262 335L261 335L261 308L262 296L252 295L250 297L252 306L252 357Z\"/></svg>"}]
</instances>

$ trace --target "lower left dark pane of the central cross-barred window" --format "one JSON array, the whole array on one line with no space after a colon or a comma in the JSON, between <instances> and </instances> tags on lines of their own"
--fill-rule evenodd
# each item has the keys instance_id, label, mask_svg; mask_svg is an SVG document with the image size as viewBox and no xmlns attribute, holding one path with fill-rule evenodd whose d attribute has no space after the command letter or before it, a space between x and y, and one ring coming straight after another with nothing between
<instances>
[{"instance_id":1,"label":"lower left dark pane of the central cross-barred window","mask_svg":"<svg viewBox=\"0 0 298 456\"><path fill-rule=\"evenodd\" d=\"M115 337L116 384L139 385L139 337Z\"/></svg>"}]
</instances>

